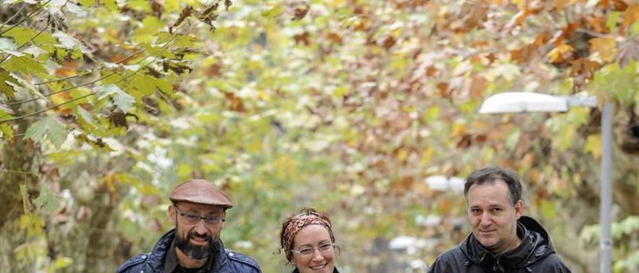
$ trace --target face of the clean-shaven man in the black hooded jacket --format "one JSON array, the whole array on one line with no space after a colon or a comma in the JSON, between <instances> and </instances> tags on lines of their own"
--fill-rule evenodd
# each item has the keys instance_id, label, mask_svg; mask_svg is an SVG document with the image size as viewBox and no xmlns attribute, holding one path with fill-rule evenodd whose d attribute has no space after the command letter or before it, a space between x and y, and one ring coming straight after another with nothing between
<instances>
[{"instance_id":1,"label":"face of the clean-shaven man in the black hooded jacket","mask_svg":"<svg viewBox=\"0 0 639 273\"><path fill-rule=\"evenodd\" d=\"M513 206L506 182L497 179L474 184L468 189L468 219L473 235L492 253L500 254L517 247L517 219L523 202Z\"/></svg>"}]
</instances>

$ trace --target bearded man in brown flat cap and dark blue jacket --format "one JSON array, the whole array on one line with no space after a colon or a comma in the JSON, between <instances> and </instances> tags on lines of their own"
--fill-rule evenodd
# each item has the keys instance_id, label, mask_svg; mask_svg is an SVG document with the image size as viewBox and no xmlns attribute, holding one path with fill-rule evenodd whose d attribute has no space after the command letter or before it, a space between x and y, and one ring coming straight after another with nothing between
<instances>
[{"instance_id":1,"label":"bearded man in brown flat cap and dark blue jacket","mask_svg":"<svg viewBox=\"0 0 639 273\"><path fill-rule=\"evenodd\" d=\"M224 249L220 232L231 200L213 183L191 179L177 186L168 207L175 229L166 233L151 253L137 255L119 272L259 273L252 258Z\"/></svg>"}]
</instances>

